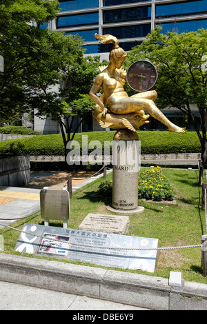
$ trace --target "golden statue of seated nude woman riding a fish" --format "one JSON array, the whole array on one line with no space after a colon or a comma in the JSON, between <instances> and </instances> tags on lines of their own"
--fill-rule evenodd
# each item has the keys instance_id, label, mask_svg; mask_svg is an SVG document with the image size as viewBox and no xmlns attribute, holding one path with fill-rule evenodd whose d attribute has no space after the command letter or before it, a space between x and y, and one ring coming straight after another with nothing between
<instances>
[{"instance_id":1,"label":"golden statue of seated nude woman riding a fish","mask_svg":"<svg viewBox=\"0 0 207 324\"><path fill-rule=\"evenodd\" d=\"M101 43L113 43L114 45L109 54L110 63L107 67L100 69L89 94L96 103L94 114L101 128L115 130L127 128L135 132L144 123L149 123L147 119L151 115L166 125L169 132L185 132L184 128L173 124L157 108L154 103L157 98L155 90L139 92L128 97L124 90L126 71L121 68L126 59L126 52L119 47L117 38L110 34L103 36L95 34L95 38L99 39ZM97 93L100 89L103 90L103 93L98 97ZM106 108L106 105L109 108ZM147 110L150 115L145 114L144 110Z\"/></svg>"}]
</instances>

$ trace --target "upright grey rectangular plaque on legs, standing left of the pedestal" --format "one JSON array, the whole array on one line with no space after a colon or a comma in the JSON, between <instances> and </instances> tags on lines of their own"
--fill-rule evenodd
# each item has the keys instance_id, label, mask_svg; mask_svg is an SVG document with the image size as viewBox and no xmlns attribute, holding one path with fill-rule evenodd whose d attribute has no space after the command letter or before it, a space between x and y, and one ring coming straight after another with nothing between
<instances>
[{"instance_id":1,"label":"upright grey rectangular plaque on legs, standing left of the pedestal","mask_svg":"<svg viewBox=\"0 0 207 324\"><path fill-rule=\"evenodd\" d=\"M40 208L43 219L68 221L70 216L70 199L67 190L42 189Z\"/></svg>"}]
</instances>

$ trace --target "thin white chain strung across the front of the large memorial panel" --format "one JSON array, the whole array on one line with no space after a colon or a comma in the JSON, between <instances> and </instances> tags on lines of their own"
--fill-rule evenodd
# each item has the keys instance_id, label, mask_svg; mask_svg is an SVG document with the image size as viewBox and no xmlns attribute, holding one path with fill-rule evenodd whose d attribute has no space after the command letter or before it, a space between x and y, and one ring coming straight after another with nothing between
<instances>
[{"instance_id":1,"label":"thin white chain strung across the front of the large memorial panel","mask_svg":"<svg viewBox=\"0 0 207 324\"><path fill-rule=\"evenodd\" d=\"M21 232L24 234L28 234L28 235L33 235L33 236L37 236L41 239L43 239L44 237L41 235L37 235L31 232L26 232L23 230L19 230L18 228L9 226L9 225L5 225L3 223L0 223L1 226L3 227L8 227L10 230L15 230L17 232ZM52 241L58 241L60 243L66 243L66 241L61 241L59 239L53 239ZM108 249L108 250L137 250L137 251L152 251L152 250L180 250L180 249L188 249L191 247L203 247L204 244L198 244L198 245L184 245L184 246L175 246L175 247L150 247L150 248L137 248L137 247L107 247L107 246L97 246L97 245L87 245L87 244L81 244L81 243L72 243L70 242L71 245L78 245L78 246L84 246L84 247L95 247L95 248L99 248L99 249Z\"/></svg>"}]
</instances>

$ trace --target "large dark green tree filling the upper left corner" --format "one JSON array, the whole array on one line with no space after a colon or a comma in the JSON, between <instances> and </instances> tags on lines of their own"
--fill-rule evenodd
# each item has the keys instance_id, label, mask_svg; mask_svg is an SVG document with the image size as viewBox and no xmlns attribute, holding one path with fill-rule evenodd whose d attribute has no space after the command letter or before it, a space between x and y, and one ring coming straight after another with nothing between
<instances>
[{"instance_id":1,"label":"large dark green tree filling the upper left corner","mask_svg":"<svg viewBox=\"0 0 207 324\"><path fill-rule=\"evenodd\" d=\"M55 18L58 5L57 0L1 1L0 54L4 72L0 73L0 118L5 121L29 108L27 83L39 69L45 38L37 25Z\"/></svg>"}]
</instances>

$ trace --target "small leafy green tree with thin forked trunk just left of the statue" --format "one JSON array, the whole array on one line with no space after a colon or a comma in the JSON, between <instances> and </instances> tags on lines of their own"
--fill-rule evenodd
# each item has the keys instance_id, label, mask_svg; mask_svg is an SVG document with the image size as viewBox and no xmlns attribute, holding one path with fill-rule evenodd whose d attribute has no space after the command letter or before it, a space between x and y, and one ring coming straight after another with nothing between
<instances>
[{"instance_id":1,"label":"small leafy green tree with thin forked trunk just left of the statue","mask_svg":"<svg viewBox=\"0 0 207 324\"><path fill-rule=\"evenodd\" d=\"M64 36L66 37L68 36ZM37 116L51 117L59 123L65 148L74 138L86 114L94 109L94 103L88 93L100 65L99 57L83 57L83 52L77 54L77 44L70 54L70 62L66 64L64 71L61 70L60 88L51 90L39 87L43 92L39 93L37 89L31 97L31 101L34 101L32 105L38 109ZM80 122L71 136L75 116L80 117Z\"/></svg>"}]
</instances>

